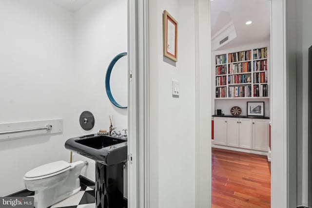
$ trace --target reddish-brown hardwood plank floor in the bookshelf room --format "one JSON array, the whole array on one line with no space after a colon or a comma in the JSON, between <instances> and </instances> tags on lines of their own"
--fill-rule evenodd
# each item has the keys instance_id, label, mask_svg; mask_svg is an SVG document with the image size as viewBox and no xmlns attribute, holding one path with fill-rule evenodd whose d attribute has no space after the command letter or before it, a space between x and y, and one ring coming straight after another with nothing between
<instances>
[{"instance_id":1,"label":"reddish-brown hardwood plank floor in the bookshelf room","mask_svg":"<svg viewBox=\"0 0 312 208\"><path fill-rule=\"evenodd\" d=\"M212 207L270 208L271 163L266 156L212 149Z\"/></svg>"}]
</instances>

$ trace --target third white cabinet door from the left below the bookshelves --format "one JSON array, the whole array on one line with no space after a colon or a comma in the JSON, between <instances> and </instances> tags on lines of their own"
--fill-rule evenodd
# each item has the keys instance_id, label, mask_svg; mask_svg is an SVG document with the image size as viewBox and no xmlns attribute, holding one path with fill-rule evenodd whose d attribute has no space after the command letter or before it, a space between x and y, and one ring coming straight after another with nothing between
<instances>
[{"instance_id":1,"label":"third white cabinet door from the left below the bookshelves","mask_svg":"<svg viewBox=\"0 0 312 208\"><path fill-rule=\"evenodd\" d=\"M252 119L239 119L239 147L252 149Z\"/></svg>"}]
</instances>

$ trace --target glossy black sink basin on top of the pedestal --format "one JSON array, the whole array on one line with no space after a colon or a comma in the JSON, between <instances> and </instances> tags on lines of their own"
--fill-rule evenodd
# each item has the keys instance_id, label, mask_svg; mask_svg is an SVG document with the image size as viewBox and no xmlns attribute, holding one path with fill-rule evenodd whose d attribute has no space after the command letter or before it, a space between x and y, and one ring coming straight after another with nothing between
<instances>
[{"instance_id":1,"label":"glossy black sink basin on top of the pedestal","mask_svg":"<svg viewBox=\"0 0 312 208\"><path fill-rule=\"evenodd\" d=\"M104 165L116 165L127 160L127 141L107 135L89 134L70 138L65 148Z\"/></svg>"}]
</instances>

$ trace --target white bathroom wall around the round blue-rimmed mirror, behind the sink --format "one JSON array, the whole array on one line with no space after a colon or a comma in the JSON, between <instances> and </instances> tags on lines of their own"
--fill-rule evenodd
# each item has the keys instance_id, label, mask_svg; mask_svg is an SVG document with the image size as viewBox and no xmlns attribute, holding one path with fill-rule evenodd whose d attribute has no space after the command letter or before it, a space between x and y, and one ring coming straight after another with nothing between
<instances>
[{"instance_id":1,"label":"white bathroom wall around the round blue-rimmed mirror, behind the sink","mask_svg":"<svg viewBox=\"0 0 312 208\"><path fill-rule=\"evenodd\" d=\"M127 110L115 107L105 91L108 65L117 54L127 52L127 0L93 0L78 10L74 14L74 41L77 115L85 110L95 115L93 133L109 129L109 115L114 115L117 131L127 128ZM120 80L126 81L122 76ZM81 128L77 131L77 135L89 133ZM75 161L86 159L74 156ZM82 175L95 180L95 163L89 161Z\"/></svg>"}]
</instances>

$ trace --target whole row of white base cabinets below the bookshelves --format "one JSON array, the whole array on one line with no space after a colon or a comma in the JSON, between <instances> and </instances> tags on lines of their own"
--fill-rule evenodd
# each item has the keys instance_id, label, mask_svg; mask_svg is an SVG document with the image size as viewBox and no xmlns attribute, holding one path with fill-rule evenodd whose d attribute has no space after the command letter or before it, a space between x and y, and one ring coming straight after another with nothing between
<instances>
[{"instance_id":1,"label":"whole row of white base cabinets below the bookshelves","mask_svg":"<svg viewBox=\"0 0 312 208\"><path fill-rule=\"evenodd\" d=\"M269 120L214 117L214 144L268 151Z\"/></svg>"}]
</instances>

